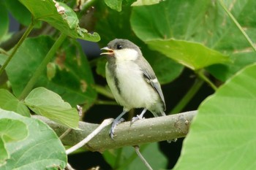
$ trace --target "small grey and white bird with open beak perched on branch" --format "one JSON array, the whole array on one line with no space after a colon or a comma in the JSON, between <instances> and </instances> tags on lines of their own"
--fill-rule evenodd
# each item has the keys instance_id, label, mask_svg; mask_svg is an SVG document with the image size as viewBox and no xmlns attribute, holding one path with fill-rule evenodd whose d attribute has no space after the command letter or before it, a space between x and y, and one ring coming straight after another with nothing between
<instances>
[{"instance_id":1,"label":"small grey and white bird with open beak perched on branch","mask_svg":"<svg viewBox=\"0 0 256 170\"><path fill-rule=\"evenodd\" d=\"M122 116L133 108L143 108L132 123L142 119L146 110L154 117L165 116L165 98L153 69L143 57L140 48L127 39L113 39L107 50L100 55L107 55L106 79L118 104L124 107L121 115L116 117L110 129L113 139L114 129L124 121Z\"/></svg>"}]
</instances>

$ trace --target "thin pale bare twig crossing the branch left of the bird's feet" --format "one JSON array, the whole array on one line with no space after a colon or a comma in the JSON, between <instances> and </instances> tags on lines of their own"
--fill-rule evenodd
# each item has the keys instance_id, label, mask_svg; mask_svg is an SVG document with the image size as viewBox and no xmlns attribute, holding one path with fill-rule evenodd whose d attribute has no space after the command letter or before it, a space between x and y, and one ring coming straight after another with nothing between
<instances>
[{"instance_id":1,"label":"thin pale bare twig crossing the branch left of the bird's feet","mask_svg":"<svg viewBox=\"0 0 256 170\"><path fill-rule=\"evenodd\" d=\"M106 119L102 122L102 124L99 125L98 128L96 128L91 134L86 136L85 139L83 139L78 144L75 144L75 146L70 147L68 150L66 150L67 155L69 155L71 152L74 152L75 150L78 150L80 147L83 147L87 142L89 142L94 136L99 134L100 131L102 131L103 128L105 128L107 125L110 125L110 123L113 122L113 119Z\"/></svg>"}]
</instances>

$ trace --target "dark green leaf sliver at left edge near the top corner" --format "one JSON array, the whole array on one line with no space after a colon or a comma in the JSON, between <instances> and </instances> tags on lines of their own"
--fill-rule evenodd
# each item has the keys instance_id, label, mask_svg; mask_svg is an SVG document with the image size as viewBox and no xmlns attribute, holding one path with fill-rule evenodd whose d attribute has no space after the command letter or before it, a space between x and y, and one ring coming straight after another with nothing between
<instances>
[{"instance_id":1,"label":"dark green leaf sliver at left edge near the top corner","mask_svg":"<svg viewBox=\"0 0 256 170\"><path fill-rule=\"evenodd\" d=\"M0 1L0 17L1 17L1 24L0 24L0 42L1 38L4 36L4 34L7 33L9 28L9 18L8 18L8 12L6 9L6 5L4 4L4 1Z\"/></svg>"}]
</instances>

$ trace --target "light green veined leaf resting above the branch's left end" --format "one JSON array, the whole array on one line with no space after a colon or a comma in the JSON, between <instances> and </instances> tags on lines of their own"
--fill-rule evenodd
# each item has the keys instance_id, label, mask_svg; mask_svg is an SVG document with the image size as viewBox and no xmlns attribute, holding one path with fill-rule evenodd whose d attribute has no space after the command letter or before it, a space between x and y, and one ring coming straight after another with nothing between
<instances>
[{"instance_id":1,"label":"light green veined leaf resting above the branch's left end","mask_svg":"<svg viewBox=\"0 0 256 170\"><path fill-rule=\"evenodd\" d=\"M69 128L78 128L78 111L64 102L58 94L46 88L35 88L24 101L38 115L48 117Z\"/></svg>"}]
</instances>

